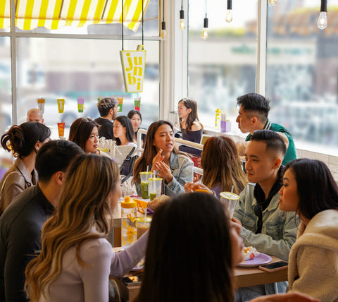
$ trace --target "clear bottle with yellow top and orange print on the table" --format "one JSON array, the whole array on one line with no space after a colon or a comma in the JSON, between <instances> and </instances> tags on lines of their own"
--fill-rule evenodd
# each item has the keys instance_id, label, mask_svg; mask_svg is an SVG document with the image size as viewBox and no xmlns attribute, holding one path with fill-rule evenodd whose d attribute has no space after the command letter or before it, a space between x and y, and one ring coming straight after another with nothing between
<instances>
[{"instance_id":1,"label":"clear bottle with yellow top and orange print on the table","mask_svg":"<svg viewBox=\"0 0 338 302\"><path fill-rule=\"evenodd\" d=\"M137 203L130 201L129 196L121 202L121 245L127 248L137 241L136 229Z\"/></svg>"}]
</instances>

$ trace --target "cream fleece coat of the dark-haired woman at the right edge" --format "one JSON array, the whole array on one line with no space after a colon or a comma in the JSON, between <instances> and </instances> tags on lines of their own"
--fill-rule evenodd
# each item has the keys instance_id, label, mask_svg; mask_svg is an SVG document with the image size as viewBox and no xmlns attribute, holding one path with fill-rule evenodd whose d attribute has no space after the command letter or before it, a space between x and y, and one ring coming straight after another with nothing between
<instances>
[{"instance_id":1,"label":"cream fleece coat of the dark-haired woman at the right edge","mask_svg":"<svg viewBox=\"0 0 338 302\"><path fill-rule=\"evenodd\" d=\"M289 254L289 290L338 301L338 210L319 212L299 225Z\"/></svg>"}]
</instances>

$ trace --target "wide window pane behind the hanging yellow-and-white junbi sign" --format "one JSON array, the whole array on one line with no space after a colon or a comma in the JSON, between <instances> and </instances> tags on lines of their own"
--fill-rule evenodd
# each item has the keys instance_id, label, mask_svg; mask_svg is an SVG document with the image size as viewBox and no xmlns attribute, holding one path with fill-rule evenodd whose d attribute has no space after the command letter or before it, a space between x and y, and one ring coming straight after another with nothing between
<instances>
[{"instance_id":1,"label":"wide window pane behind the hanging yellow-and-white junbi sign","mask_svg":"<svg viewBox=\"0 0 338 302\"><path fill-rule=\"evenodd\" d=\"M134 50L139 41L125 41L125 49ZM145 41L146 70L142 93L127 93L120 63L118 40L26 38L17 40L18 122L27 111L37 107L43 97L44 122L58 137L57 123L70 124L81 116L99 116L99 97L123 97L123 112L134 109L134 97L141 97L143 126L158 119L158 41ZM77 97L84 98L84 112L77 111ZM65 99L63 114L58 113L57 99ZM121 113L120 113L121 114Z\"/></svg>"}]
</instances>

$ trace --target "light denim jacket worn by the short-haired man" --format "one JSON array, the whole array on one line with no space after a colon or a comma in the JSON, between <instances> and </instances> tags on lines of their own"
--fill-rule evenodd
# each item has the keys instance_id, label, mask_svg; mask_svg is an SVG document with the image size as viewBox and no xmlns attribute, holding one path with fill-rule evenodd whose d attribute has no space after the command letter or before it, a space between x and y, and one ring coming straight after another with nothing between
<instances>
[{"instance_id":1,"label":"light denim jacket worn by the short-haired man","mask_svg":"<svg viewBox=\"0 0 338 302\"><path fill-rule=\"evenodd\" d=\"M263 211L261 234L255 234L258 217L254 207L257 205L253 196L255 183L249 183L239 195L239 203L234 211L234 218L242 222L241 236L244 246L253 246L261 253L275 255L287 261L292 245L296 241L299 218L295 212L283 212L278 205L279 194L273 196L268 207Z\"/></svg>"}]
</instances>

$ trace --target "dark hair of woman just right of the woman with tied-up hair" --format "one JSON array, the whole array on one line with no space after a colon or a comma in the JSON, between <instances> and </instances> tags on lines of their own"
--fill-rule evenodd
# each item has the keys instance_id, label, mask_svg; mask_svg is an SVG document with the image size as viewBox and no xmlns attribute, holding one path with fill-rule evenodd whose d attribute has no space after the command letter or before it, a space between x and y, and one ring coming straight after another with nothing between
<instances>
[{"instance_id":1,"label":"dark hair of woman just right of the woman with tied-up hair","mask_svg":"<svg viewBox=\"0 0 338 302\"><path fill-rule=\"evenodd\" d=\"M86 142L94 127L99 130L100 125L90 118L80 117L75 119L69 129L69 140L86 152Z\"/></svg>"}]
</instances>

